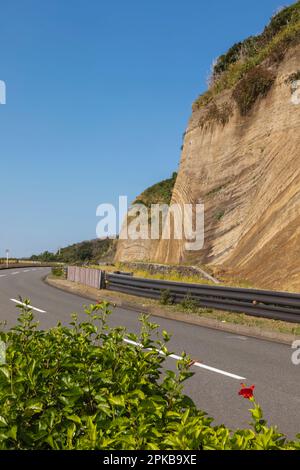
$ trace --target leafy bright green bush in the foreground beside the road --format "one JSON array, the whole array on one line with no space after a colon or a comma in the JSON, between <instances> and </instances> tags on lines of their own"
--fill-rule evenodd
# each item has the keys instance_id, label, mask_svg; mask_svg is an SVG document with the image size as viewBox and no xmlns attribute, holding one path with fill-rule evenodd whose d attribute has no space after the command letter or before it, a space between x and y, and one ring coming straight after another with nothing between
<instances>
[{"instance_id":1,"label":"leafy bright green bush in the foreground beside the road","mask_svg":"<svg viewBox=\"0 0 300 470\"><path fill-rule=\"evenodd\" d=\"M300 448L267 427L255 402L252 429L214 427L182 393L190 358L182 355L177 373L163 371L169 335L151 339L158 326L147 317L139 335L126 335L107 326L107 303L85 313L84 322L74 314L69 327L42 331L27 306L18 325L1 333L7 346L0 365L1 450Z\"/></svg>"}]
</instances>

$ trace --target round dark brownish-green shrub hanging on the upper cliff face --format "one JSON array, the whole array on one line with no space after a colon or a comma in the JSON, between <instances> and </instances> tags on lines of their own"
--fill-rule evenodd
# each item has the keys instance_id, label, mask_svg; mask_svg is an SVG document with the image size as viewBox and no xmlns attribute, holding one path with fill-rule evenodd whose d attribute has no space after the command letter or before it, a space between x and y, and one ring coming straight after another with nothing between
<instances>
[{"instance_id":1,"label":"round dark brownish-green shrub hanging on the upper cliff face","mask_svg":"<svg viewBox=\"0 0 300 470\"><path fill-rule=\"evenodd\" d=\"M270 70L258 66L250 70L239 81L233 91L240 113L246 116L259 97L265 97L275 81L275 75Z\"/></svg>"}]
</instances>

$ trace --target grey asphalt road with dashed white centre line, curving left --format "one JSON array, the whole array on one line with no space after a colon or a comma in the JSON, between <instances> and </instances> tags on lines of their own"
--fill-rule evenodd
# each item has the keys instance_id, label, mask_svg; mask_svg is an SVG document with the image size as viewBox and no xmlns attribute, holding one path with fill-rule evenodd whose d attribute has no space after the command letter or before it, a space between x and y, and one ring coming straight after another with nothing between
<instances>
[{"instance_id":1,"label":"grey asphalt road with dashed white centre line, curving left","mask_svg":"<svg viewBox=\"0 0 300 470\"><path fill-rule=\"evenodd\" d=\"M67 324L72 312L82 312L89 303L43 282L48 268L0 271L0 321L16 322L19 296L29 298L42 328L58 321ZM111 325L139 331L139 312L114 309ZM255 395L272 425L293 438L300 433L300 366L291 361L289 346L241 337L226 332L153 317L170 332L174 354L186 351L202 367L193 366L194 377L186 392L201 409L231 428L248 426L249 402L238 396L240 383L255 384ZM176 361L167 360L174 368Z\"/></svg>"}]
</instances>

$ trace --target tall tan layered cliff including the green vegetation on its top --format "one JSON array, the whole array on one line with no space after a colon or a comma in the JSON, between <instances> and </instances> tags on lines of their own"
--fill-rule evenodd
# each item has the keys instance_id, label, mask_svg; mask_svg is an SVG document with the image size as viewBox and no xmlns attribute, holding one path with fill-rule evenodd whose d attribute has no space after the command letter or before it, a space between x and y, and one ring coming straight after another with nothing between
<instances>
[{"instance_id":1,"label":"tall tan layered cliff including the green vegetation on its top","mask_svg":"<svg viewBox=\"0 0 300 470\"><path fill-rule=\"evenodd\" d=\"M299 290L300 2L221 56L194 103L172 202L203 201L205 245L127 242L118 260L207 264Z\"/></svg>"}]
</instances>

